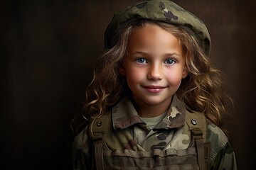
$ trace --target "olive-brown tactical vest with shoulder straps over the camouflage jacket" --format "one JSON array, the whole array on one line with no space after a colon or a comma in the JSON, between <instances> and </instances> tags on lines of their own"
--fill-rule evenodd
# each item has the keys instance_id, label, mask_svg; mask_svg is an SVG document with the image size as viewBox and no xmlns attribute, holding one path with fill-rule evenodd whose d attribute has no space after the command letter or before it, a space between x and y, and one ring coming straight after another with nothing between
<instances>
[{"instance_id":1,"label":"olive-brown tactical vest with shoulder straps over the camouflage jacket","mask_svg":"<svg viewBox=\"0 0 256 170\"><path fill-rule=\"evenodd\" d=\"M90 124L94 147L92 169L208 169L210 142L206 142L205 115L187 111L185 126L191 130L192 137L187 149L136 152L123 149L122 143L117 142L117 138L124 138L122 134L127 129L114 130L111 113L95 118Z\"/></svg>"}]
</instances>

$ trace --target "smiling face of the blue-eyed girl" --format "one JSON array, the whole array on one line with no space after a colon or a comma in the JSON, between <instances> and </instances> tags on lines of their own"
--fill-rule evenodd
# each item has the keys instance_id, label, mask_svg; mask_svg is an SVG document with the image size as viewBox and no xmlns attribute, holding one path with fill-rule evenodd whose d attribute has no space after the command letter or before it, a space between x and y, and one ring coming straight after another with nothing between
<instances>
[{"instance_id":1,"label":"smiling face of the blue-eyed girl","mask_svg":"<svg viewBox=\"0 0 256 170\"><path fill-rule=\"evenodd\" d=\"M188 70L179 40L159 26L148 25L130 35L119 73L127 77L138 106L169 108Z\"/></svg>"}]
</instances>

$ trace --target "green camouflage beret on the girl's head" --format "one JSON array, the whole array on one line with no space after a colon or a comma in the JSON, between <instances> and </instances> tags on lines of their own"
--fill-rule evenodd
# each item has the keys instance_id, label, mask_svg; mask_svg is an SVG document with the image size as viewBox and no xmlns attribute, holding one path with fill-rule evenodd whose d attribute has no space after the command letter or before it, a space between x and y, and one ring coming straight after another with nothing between
<instances>
[{"instance_id":1,"label":"green camouflage beret on the girl's head","mask_svg":"<svg viewBox=\"0 0 256 170\"><path fill-rule=\"evenodd\" d=\"M143 1L114 13L112 21L105 30L105 48L110 49L115 45L120 28L124 28L132 21L141 19L163 21L174 26L182 26L190 33L192 31L198 35L202 41L203 50L206 54L210 53L210 35L203 21L169 0Z\"/></svg>"}]
</instances>

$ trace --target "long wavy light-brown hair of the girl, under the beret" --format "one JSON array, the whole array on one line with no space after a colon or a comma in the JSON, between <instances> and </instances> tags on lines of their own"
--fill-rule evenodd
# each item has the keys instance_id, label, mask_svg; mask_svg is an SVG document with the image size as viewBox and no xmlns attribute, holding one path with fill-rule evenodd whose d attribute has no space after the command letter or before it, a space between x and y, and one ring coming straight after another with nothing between
<instances>
[{"instance_id":1,"label":"long wavy light-brown hair of the girl, under the beret","mask_svg":"<svg viewBox=\"0 0 256 170\"><path fill-rule=\"evenodd\" d=\"M76 133L82 130L90 118L100 117L107 108L112 108L123 96L131 93L125 77L119 74L118 69L127 53L129 35L134 29L149 25L160 26L175 35L186 54L189 74L176 91L178 98L185 103L188 111L204 113L211 122L221 126L222 116L226 113L222 74L213 67L209 54L203 50L203 41L185 26L140 20L118 30L119 38L114 47L97 59L93 79L85 93L82 112L72 121Z\"/></svg>"}]
</instances>

